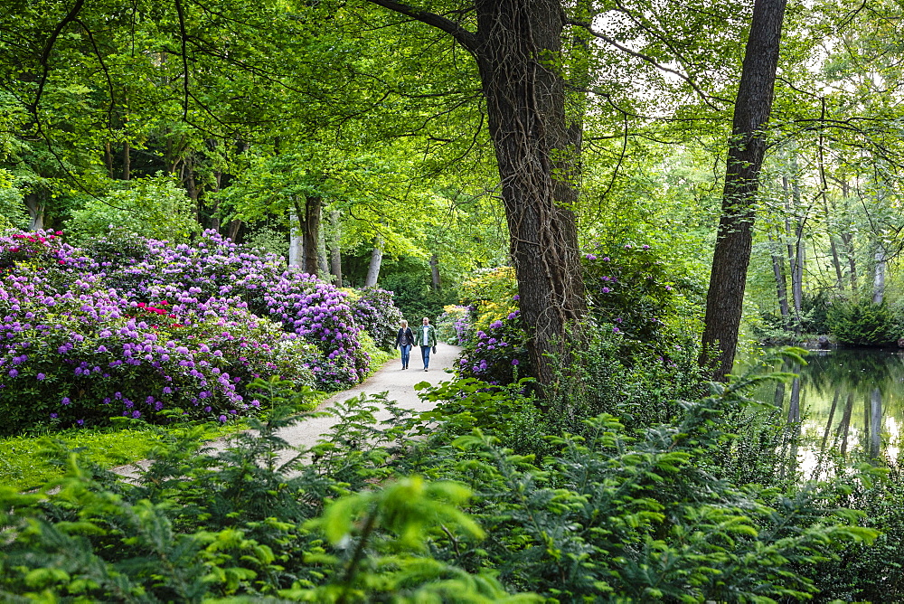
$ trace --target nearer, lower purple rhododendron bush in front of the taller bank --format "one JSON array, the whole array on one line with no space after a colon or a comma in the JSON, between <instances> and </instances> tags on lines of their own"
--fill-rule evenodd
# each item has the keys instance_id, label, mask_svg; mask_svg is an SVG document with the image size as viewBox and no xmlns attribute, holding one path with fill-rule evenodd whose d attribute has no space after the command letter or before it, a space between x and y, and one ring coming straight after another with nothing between
<instances>
[{"instance_id":1,"label":"nearer, lower purple rhododendron bush in front of the taller bank","mask_svg":"<svg viewBox=\"0 0 904 604\"><path fill-rule=\"evenodd\" d=\"M244 392L255 377L314 382L315 348L238 300L145 304L97 277L47 282L17 270L0 282L0 432L174 409L225 421L258 406Z\"/></svg>"}]
</instances>

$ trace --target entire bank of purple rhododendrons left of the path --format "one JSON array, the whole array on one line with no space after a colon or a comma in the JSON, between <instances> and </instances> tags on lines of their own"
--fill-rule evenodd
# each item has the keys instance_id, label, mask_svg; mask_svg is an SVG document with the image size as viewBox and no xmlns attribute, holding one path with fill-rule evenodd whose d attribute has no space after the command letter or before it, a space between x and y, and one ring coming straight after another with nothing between
<instances>
[{"instance_id":1,"label":"entire bank of purple rhododendrons left of the path","mask_svg":"<svg viewBox=\"0 0 904 604\"><path fill-rule=\"evenodd\" d=\"M276 256L210 231L94 258L60 235L0 237L0 432L174 410L224 421L259 404L255 377L337 390L367 372L346 294Z\"/></svg>"}]
</instances>

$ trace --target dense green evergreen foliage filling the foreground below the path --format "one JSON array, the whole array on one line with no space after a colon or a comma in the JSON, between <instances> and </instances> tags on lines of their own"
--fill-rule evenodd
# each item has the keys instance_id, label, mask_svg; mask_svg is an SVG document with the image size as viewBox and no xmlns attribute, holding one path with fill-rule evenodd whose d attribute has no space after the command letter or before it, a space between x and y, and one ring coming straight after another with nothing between
<instances>
[{"instance_id":1,"label":"dense green evergreen foliage filling the foreground below the path","mask_svg":"<svg viewBox=\"0 0 904 604\"><path fill-rule=\"evenodd\" d=\"M323 444L281 457L274 430L295 421L280 411L295 395L258 385L276 411L216 456L191 431L171 433L135 485L72 466L56 494L4 490L13 539L0 552L0 593L776 601L815 590L802 568L876 535L836 505L851 485L872 484L870 473L783 495L707 469L732 440L726 411L745 403L751 382L684 403L671 426L632 433L612 416L589 419L584 437L552 439L541 467L501 447L493 429L467 428L467 402L436 431L392 406L396 420L379 428L372 401L352 400ZM419 429L434 433L400 440Z\"/></svg>"}]
</instances>

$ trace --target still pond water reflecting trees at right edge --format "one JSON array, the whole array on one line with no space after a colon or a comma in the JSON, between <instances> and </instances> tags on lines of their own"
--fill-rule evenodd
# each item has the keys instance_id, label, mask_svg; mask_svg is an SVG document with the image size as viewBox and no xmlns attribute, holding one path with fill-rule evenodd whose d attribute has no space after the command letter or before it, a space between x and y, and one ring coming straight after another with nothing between
<instances>
[{"instance_id":1,"label":"still pond water reflecting trees at right edge","mask_svg":"<svg viewBox=\"0 0 904 604\"><path fill-rule=\"evenodd\" d=\"M787 361L775 365L776 370L799 377L769 384L757 393L759 400L780 403L788 419L802 420L802 468L815 468L820 452L828 450L899 458L904 351L858 348L809 353L805 366Z\"/></svg>"}]
</instances>

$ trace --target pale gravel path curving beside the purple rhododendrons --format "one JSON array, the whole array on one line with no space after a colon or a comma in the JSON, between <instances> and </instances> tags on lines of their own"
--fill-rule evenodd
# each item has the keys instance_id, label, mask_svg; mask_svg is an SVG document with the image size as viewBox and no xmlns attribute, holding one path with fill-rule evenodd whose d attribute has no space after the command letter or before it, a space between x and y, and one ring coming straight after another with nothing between
<instances>
[{"instance_id":1,"label":"pale gravel path curving beside the purple rhododendrons","mask_svg":"<svg viewBox=\"0 0 904 604\"><path fill-rule=\"evenodd\" d=\"M379 394L387 392L388 401L395 401L403 409L414 411L429 411L434 403L421 401L418 392L414 390L414 384L418 382L448 382L452 379L446 370L452 367L461 348L448 344L439 344L437 353L430 354L430 370L425 372L424 363L420 358L419 346L414 346L411 351L409 368L402 370L399 359L391 359L384 364L380 371L374 373L362 384L351 390L336 392L317 407L317 411L329 409L335 402L347 401L362 393ZM378 420L386 420L390 417L388 411L376 413ZM321 435L329 432L330 428L338 421L331 416L308 418L294 426L279 431L279 436L286 439L294 447L311 447L317 443Z\"/></svg>"}]
</instances>

